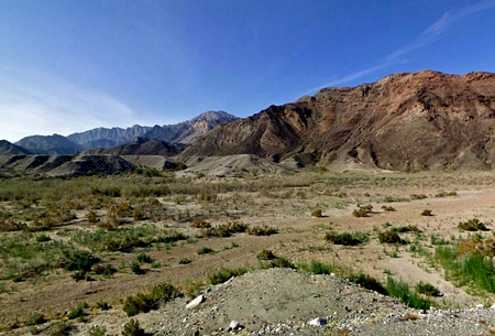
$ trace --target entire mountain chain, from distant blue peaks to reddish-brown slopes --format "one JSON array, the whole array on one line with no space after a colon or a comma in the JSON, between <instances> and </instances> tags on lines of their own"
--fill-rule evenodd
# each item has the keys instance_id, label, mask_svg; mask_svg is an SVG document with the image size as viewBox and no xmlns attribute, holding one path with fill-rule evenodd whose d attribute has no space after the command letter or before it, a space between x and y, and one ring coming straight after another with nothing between
<instances>
[{"instance_id":1,"label":"entire mountain chain, from distant blue peaks to reddish-brown slopes","mask_svg":"<svg viewBox=\"0 0 495 336\"><path fill-rule=\"evenodd\" d=\"M166 155L183 162L249 154L293 167L417 171L493 169L494 132L495 74L421 71L324 88L243 119L210 111L174 126L29 137L15 145L32 153L75 153L98 143L103 149L85 154ZM1 145L12 153L22 150Z\"/></svg>"}]
</instances>

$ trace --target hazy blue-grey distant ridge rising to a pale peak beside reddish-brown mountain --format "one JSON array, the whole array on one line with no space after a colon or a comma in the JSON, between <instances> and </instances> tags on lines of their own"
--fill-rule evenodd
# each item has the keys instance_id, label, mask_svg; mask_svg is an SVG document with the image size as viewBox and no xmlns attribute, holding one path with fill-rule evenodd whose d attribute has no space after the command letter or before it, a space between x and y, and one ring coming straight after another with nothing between
<instances>
[{"instance_id":1,"label":"hazy blue-grey distant ridge rising to a pale peak beside reddish-brown mountain","mask_svg":"<svg viewBox=\"0 0 495 336\"><path fill-rule=\"evenodd\" d=\"M135 138L155 139L166 142L193 143L200 136L220 123L239 118L223 111L208 111L198 117L177 124L144 127L135 124L131 128L98 128L67 138L84 149L112 148L132 142Z\"/></svg>"}]
</instances>

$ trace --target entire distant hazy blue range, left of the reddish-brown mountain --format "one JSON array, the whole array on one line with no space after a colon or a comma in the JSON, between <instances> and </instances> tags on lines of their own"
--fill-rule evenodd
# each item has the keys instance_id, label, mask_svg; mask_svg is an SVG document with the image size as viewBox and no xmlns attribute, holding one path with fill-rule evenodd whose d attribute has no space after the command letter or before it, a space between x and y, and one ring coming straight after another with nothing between
<instances>
[{"instance_id":1,"label":"entire distant hazy blue range, left of the reddish-brown mountain","mask_svg":"<svg viewBox=\"0 0 495 336\"><path fill-rule=\"evenodd\" d=\"M76 154L90 149L110 149L133 142L135 144L139 139L189 144L218 124L237 119L239 118L224 111L207 111L177 124L154 127L135 124L127 129L97 128L67 137L31 136L14 144L33 154ZM0 153L3 151L0 150Z\"/></svg>"}]
</instances>

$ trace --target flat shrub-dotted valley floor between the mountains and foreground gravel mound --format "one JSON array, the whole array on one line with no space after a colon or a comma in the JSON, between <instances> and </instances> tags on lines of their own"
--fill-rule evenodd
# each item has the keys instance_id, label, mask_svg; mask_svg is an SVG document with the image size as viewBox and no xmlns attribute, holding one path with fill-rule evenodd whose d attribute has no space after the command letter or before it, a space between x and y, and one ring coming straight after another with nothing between
<instances>
[{"instance_id":1,"label":"flat shrub-dotted valley floor between the mountains and foreground gravel mound","mask_svg":"<svg viewBox=\"0 0 495 336\"><path fill-rule=\"evenodd\" d=\"M495 252L493 172L252 170L237 177L160 173L1 183L3 333L55 334L55 324L68 323L85 334L89 327L80 325L98 325L109 307L122 319L112 326L109 317L105 328L119 335L130 318L122 311L130 295L169 283L186 303L211 288L220 270L270 268L270 251L302 271L317 261L342 279L362 272L384 285L388 278L404 281L411 291L430 284L442 294L420 296L438 308L495 302L439 257L449 248L482 250L486 258ZM363 217L360 208L367 209ZM485 230L459 228L474 219ZM381 242L394 228L400 240ZM359 241L334 243L331 237L345 232ZM70 316L82 302L82 313ZM323 314L317 306L310 313Z\"/></svg>"}]
</instances>

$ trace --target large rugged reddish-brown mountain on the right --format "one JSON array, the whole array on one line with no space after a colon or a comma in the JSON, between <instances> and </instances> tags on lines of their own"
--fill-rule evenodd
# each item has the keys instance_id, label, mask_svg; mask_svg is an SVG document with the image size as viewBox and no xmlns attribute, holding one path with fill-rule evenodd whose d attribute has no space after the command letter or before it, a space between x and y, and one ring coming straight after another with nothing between
<instances>
[{"instance_id":1,"label":"large rugged reddish-brown mountain on the right","mask_svg":"<svg viewBox=\"0 0 495 336\"><path fill-rule=\"evenodd\" d=\"M183 156L256 154L302 164L492 169L495 74L424 71L326 88L220 126Z\"/></svg>"}]
</instances>

